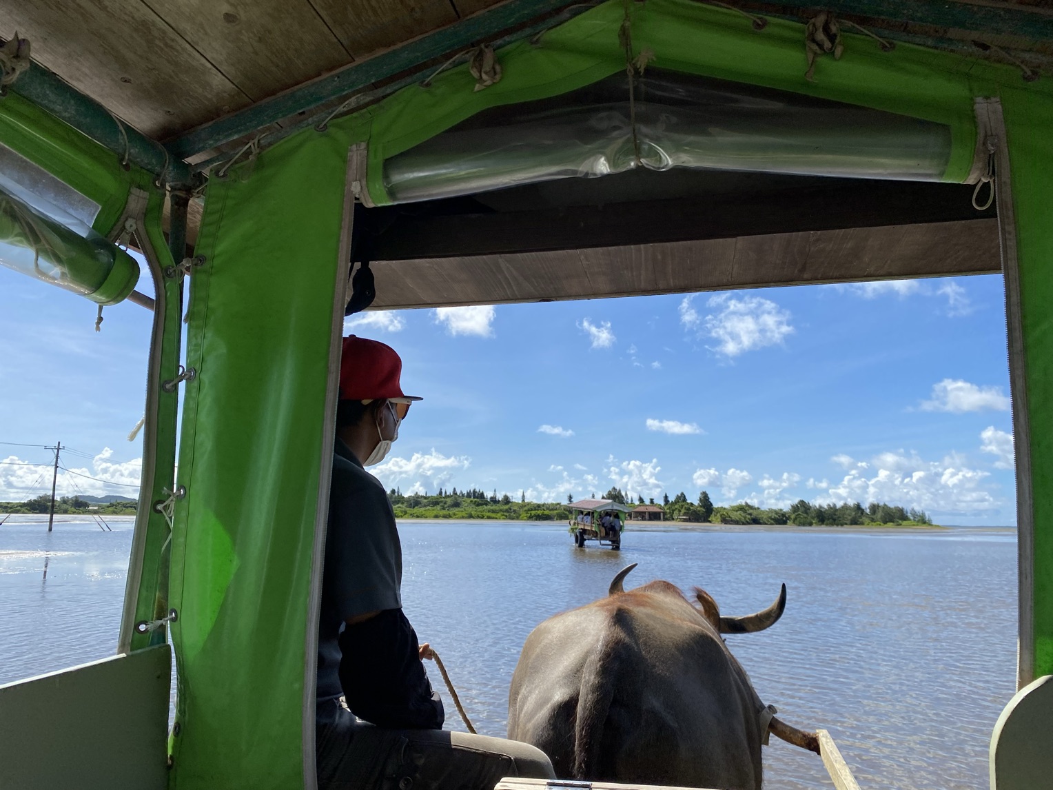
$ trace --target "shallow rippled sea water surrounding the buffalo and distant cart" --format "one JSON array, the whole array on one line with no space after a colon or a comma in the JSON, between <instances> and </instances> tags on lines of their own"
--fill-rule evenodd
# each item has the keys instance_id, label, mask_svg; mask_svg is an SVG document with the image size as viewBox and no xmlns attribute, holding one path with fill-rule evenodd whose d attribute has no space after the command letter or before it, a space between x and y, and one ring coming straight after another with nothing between
<instances>
[{"instance_id":1,"label":"shallow rippled sea water surrounding the buffalo and distant cart","mask_svg":"<svg viewBox=\"0 0 1053 790\"><path fill-rule=\"evenodd\" d=\"M24 520L0 527L0 683L111 655L124 594L131 519L51 535ZM620 553L575 549L559 525L400 531L405 612L483 734L504 734L531 629L639 562L627 588L697 585L723 614L762 609L787 584L782 619L728 644L781 718L830 730L863 788L988 787L991 730L1014 690L1012 530L629 531ZM446 717L460 729L449 700ZM772 790L831 787L817 756L775 738L764 775Z\"/></svg>"}]
</instances>

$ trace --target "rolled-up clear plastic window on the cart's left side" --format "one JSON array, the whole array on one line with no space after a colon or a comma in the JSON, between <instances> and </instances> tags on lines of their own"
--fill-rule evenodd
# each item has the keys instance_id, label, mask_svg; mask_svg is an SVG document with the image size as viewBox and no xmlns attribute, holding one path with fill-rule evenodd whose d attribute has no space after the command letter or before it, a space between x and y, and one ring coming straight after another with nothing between
<instances>
[{"instance_id":1,"label":"rolled-up clear plastic window on the cart's left side","mask_svg":"<svg viewBox=\"0 0 1053 790\"><path fill-rule=\"evenodd\" d=\"M116 304L138 282L139 264L91 230L82 233L0 190L0 263L100 304Z\"/></svg>"}]
</instances>

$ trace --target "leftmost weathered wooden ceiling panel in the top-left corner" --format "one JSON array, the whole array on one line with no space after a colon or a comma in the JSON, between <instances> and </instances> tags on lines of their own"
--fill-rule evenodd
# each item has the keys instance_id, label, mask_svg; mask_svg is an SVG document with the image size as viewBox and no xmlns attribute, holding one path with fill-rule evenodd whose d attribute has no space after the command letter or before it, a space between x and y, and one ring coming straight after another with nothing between
<instances>
[{"instance_id":1,"label":"leftmost weathered wooden ceiling panel in the top-left corner","mask_svg":"<svg viewBox=\"0 0 1053 790\"><path fill-rule=\"evenodd\" d=\"M250 98L140 0L6 3L0 35L148 137L239 110Z\"/></svg>"}]
</instances>

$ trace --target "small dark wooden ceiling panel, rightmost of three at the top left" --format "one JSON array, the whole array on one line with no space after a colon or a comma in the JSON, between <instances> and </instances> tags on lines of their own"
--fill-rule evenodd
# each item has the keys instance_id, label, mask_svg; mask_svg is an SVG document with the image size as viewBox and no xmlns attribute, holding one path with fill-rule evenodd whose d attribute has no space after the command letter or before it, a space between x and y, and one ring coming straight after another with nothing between
<instances>
[{"instance_id":1,"label":"small dark wooden ceiling panel, rightmost of three at the top left","mask_svg":"<svg viewBox=\"0 0 1053 790\"><path fill-rule=\"evenodd\" d=\"M456 22L449 0L311 0L356 59Z\"/></svg>"}]
</instances>

